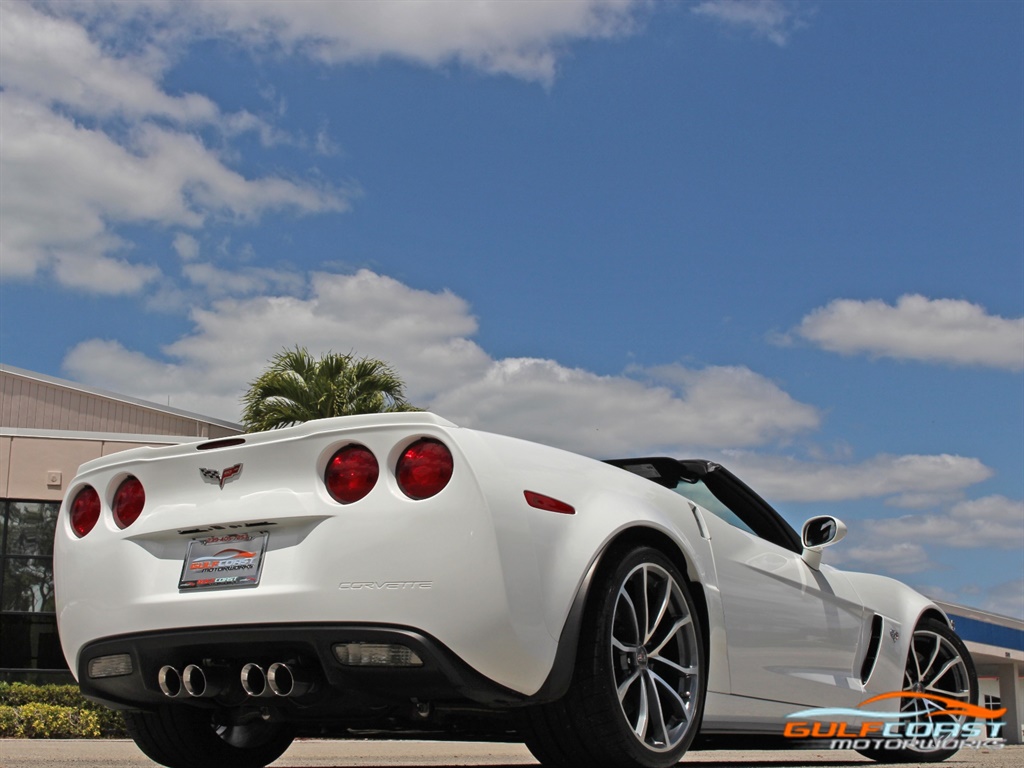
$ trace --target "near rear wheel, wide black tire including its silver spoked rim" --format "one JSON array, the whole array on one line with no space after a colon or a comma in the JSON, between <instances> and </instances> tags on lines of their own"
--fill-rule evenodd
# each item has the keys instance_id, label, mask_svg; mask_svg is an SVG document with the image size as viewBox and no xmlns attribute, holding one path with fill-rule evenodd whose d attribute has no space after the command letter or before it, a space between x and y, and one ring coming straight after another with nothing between
<instances>
[{"instance_id":1,"label":"near rear wheel, wide black tire including its silver spoked rim","mask_svg":"<svg viewBox=\"0 0 1024 768\"><path fill-rule=\"evenodd\" d=\"M591 587L568 692L523 713L523 740L551 768L668 768L700 727L700 621L686 580L658 550L608 560Z\"/></svg>"}]
</instances>

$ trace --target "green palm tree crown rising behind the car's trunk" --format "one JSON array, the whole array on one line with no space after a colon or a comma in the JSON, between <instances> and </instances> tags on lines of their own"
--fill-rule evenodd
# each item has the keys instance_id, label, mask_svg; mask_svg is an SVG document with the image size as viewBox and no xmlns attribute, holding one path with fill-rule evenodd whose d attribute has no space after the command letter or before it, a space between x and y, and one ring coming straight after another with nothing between
<instances>
[{"instance_id":1,"label":"green palm tree crown rising behind the car's trunk","mask_svg":"<svg viewBox=\"0 0 1024 768\"><path fill-rule=\"evenodd\" d=\"M383 360L335 352L316 359L299 346L275 354L249 384L242 403L247 432L333 416L419 410L406 400L404 384Z\"/></svg>"}]
</instances>

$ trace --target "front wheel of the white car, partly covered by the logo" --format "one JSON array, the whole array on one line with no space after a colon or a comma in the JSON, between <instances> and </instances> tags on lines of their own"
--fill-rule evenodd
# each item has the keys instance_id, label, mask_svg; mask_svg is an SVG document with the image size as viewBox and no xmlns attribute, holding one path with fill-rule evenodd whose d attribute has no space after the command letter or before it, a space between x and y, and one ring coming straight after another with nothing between
<instances>
[{"instance_id":1,"label":"front wheel of the white car, partly covered by the logo","mask_svg":"<svg viewBox=\"0 0 1024 768\"><path fill-rule=\"evenodd\" d=\"M956 633L945 622L924 618L913 631L903 672L903 690L918 693L935 693L954 698L964 703L978 703L978 675L971 652ZM925 702L925 703L922 703ZM928 709L936 711L927 699L903 699L901 712L920 712L904 723L964 723L965 716L930 716ZM933 739L923 739L921 746L901 750L858 750L861 755L879 763L938 763L955 755L956 749L929 749Z\"/></svg>"}]
</instances>

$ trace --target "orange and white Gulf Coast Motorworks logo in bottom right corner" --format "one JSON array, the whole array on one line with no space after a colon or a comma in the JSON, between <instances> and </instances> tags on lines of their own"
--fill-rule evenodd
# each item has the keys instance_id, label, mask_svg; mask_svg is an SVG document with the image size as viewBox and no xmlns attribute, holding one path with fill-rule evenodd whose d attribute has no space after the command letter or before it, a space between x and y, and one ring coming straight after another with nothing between
<instances>
[{"instance_id":1,"label":"orange and white Gulf Coast Motorworks logo in bottom right corner","mask_svg":"<svg viewBox=\"0 0 1024 768\"><path fill-rule=\"evenodd\" d=\"M899 712L868 707L900 699ZM990 710L934 693L894 691L863 701L857 709L813 709L788 715L782 734L794 739L829 739L831 750L999 749L1006 709Z\"/></svg>"}]
</instances>

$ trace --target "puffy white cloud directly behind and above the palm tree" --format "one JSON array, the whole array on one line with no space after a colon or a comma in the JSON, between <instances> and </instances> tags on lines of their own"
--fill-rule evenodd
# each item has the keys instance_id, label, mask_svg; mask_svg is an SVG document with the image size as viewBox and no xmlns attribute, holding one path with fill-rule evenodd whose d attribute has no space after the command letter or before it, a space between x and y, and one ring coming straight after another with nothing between
<instances>
[{"instance_id":1,"label":"puffy white cloud directly behind and above the palm tree","mask_svg":"<svg viewBox=\"0 0 1024 768\"><path fill-rule=\"evenodd\" d=\"M127 394L157 402L173 393L177 408L237 420L245 385L274 353L295 344L313 353L354 351L388 360L418 404L490 365L469 339L476 319L468 305L449 292L418 291L362 270L314 273L296 293L306 296L228 298L194 309L193 333L164 348L172 362L90 340L71 351L65 368L96 386L125 391L130 383Z\"/></svg>"}]
</instances>

